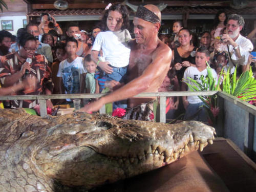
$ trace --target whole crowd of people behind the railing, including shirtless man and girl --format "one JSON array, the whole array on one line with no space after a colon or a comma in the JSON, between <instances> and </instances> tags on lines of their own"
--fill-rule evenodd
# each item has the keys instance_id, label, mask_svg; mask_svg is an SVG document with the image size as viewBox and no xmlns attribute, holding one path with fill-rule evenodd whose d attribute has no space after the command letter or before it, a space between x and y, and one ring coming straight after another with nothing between
<instances>
[{"instance_id":1,"label":"whole crowd of people behind the railing, including shirtless man and girl","mask_svg":"<svg viewBox=\"0 0 256 192\"><path fill-rule=\"evenodd\" d=\"M125 108L124 119L153 120L156 97L133 98L141 92L187 91L188 77L200 82L207 75L207 62L214 77L221 71L254 71L255 33L248 38L240 31L244 19L237 14L217 13L212 31L200 40L184 28L181 20L173 24L174 38L159 35L161 12L154 5L139 6L133 20L132 38L129 14L120 4L106 7L92 36L69 23L65 40L55 18L41 14L39 25L29 23L19 29L17 38L0 31L0 95L109 93L100 99L83 99L81 111L96 112L103 104ZM253 43L252 43L253 42ZM36 100L5 101L5 108L35 108ZM71 99L47 100L47 106L70 103ZM203 102L197 96L170 97L167 118L180 114L207 121L198 112ZM195 114L197 114L195 116Z\"/></svg>"}]
</instances>

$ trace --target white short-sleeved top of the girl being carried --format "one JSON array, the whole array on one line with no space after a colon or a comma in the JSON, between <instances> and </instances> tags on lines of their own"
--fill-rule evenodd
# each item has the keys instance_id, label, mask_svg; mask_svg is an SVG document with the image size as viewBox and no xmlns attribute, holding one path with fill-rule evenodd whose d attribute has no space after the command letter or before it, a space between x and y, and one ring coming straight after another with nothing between
<instances>
[{"instance_id":1,"label":"white short-sleeved top of the girl being carried","mask_svg":"<svg viewBox=\"0 0 256 192\"><path fill-rule=\"evenodd\" d=\"M100 32L94 41L92 50L102 49L103 57L112 66L120 68L129 64L131 49L127 42L131 39L128 30Z\"/></svg>"}]
</instances>

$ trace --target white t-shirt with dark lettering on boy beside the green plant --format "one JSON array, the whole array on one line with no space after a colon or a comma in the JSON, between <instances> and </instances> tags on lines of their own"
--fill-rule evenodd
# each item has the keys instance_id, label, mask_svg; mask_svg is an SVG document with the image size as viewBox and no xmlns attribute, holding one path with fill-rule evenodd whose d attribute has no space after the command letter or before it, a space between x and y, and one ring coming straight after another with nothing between
<instances>
[{"instance_id":1,"label":"white t-shirt with dark lettering on boy beside the green plant","mask_svg":"<svg viewBox=\"0 0 256 192\"><path fill-rule=\"evenodd\" d=\"M211 69L211 73L214 78L217 77L217 73L214 69ZM190 77L191 79L194 79L199 83L202 83L202 81L200 80L200 77L202 75L204 77L206 77L207 74L208 73L207 73L206 68L200 72L196 67L191 66L185 70L183 78L189 81L189 79L187 79L187 77ZM192 90L190 90L188 87L187 91L192 91ZM202 102L202 100L198 96L187 96L187 101L191 104L196 104L196 103Z\"/></svg>"}]
</instances>

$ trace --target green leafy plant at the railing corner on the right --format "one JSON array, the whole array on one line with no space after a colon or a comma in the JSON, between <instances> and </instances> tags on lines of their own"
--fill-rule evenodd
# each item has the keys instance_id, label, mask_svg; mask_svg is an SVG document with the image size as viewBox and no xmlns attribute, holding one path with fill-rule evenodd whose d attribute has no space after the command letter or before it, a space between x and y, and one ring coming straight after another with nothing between
<instances>
[{"instance_id":1,"label":"green leafy plant at the railing corner on the right","mask_svg":"<svg viewBox=\"0 0 256 192\"><path fill-rule=\"evenodd\" d=\"M253 77L252 70L245 71L237 78L237 68L233 74L230 70L221 71L218 79L212 76L211 68L207 63L207 76L200 77L202 83L188 78L184 80L190 90L193 91L223 91L230 95L236 96L244 101L256 100L256 79ZM217 95L198 96L203 102L203 107L207 111L209 123L215 124L219 108L217 106Z\"/></svg>"}]
</instances>

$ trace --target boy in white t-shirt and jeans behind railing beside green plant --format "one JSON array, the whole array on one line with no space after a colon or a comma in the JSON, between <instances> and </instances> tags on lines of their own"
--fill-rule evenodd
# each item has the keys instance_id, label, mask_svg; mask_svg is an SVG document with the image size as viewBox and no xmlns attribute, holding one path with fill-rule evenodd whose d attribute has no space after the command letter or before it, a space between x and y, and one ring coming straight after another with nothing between
<instances>
[{"instance_id":1,"label":"boy in white t-shirt and jeans behind railing beside green plant","mask_svg":"<svg viewBox=\"0 0 256 192\"><path fill-rule=\"evenodd\" d=\"M188 77L196 80L197 82L201 83L200 77L207 76L207 65L206 61L208 62L210 58L209 51L205 47L201 47L197 50L196 53L196 67L188 67L184 72L183 82L182 82L182 91L190 91L187 89L188 86L185 82L190 83ZM214 78L217 77L217 73L214 69L211 69L212 76ZM185 82L184 82L185 81ZM182 97L184 108L186 109L186 113L184 119L191 119L197 121L204 121L207 122L207 115L206 111L202 108L199 111L199 108L204 104L202 100L198 96L183 96ZM194 117L195 116L195 117Z\"/></svg>"}]
</instances>

